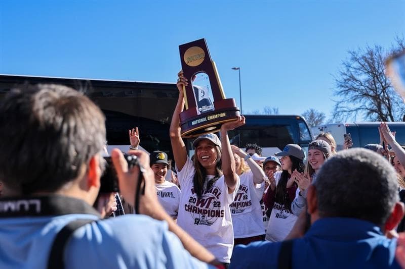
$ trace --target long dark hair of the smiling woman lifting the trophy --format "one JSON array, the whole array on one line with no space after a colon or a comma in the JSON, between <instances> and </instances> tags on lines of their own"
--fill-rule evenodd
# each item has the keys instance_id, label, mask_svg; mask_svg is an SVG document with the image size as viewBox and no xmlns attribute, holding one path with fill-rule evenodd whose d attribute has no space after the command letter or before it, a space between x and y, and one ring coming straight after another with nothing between
<instances>
[{"instance_id":1,"label":"long dark hair of the smiling woman lifting the trophy","mask_svg":"<svg viewBox=\"0 0 405 269\"><path fill-rule=\"evenodd\" d=\"M219 177L222 176L221 148L215 145L215 150L217 151L217 164L215 167L216 173L215 177L207 183L207 190L209 190L215 184L215 181L217 181ZM195 169L193 177L194 192L197 194L198 198L201 198L203 196L204 182L207 178L207 170L199 163L198 158L195 154L191 159L193 161Z\"/></svg>"}]
</instances>

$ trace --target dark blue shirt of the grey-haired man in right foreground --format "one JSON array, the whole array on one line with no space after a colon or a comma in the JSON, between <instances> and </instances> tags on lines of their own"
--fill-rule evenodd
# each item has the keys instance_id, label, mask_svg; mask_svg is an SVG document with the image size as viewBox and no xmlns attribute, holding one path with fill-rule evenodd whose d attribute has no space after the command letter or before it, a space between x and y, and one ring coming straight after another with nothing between
<instances>
[{"instance_id":1,"label":"dark blue shirt of the grey-haired man in right foreground","mask_svg":"<svg viewBox=\"0 0 405 269\"><path fill-rule=\"evenodd\" d=\"M277 268L280 242L237 245L230 268ZM295 239L293 268L400 268L395 260L396 239L379 227L350 218L323 218L304 237Z\"/></svg>"}]
</instances>

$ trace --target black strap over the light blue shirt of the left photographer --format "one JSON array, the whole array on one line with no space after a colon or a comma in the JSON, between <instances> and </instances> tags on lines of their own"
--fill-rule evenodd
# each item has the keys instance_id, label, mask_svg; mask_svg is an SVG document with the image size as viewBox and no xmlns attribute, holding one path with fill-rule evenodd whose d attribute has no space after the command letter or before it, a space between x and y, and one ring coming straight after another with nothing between
<instances>
[{"instance_id":1,"label":"black strap over the light blue shirt of the left photographer","mask_svg":"<svg viewBox=\"0 0 405 269\"><path fill-rule=\"evenodd\" d=\"M59 231L56 235L54 242L52 244L51 253L48 258L48 268L49 269L63 269L64 264L64 251L67 241L70 239L70 236L78 228L96 222L95 220L74 220L69 222Z\"/></svg>"}]
</instances>

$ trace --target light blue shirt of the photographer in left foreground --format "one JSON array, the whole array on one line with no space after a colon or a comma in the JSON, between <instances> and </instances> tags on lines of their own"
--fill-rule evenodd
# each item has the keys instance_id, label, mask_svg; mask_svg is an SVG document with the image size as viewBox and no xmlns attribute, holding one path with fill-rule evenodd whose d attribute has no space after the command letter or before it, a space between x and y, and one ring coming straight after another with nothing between
<instances>
[{"instance_id":1,"label":"light blue shirt of the photographer in left foreground","mask_svg":"<svg viewBox=\"0 0 405 269\"><path fill-rule=\"evenodd\" d=\"M0 218L0 268L46 268L55 235L93 214ZM193 258L166 222L127 214L77 229L65 248L66 268L207 268Z\"/></svg>"}]
</instances>

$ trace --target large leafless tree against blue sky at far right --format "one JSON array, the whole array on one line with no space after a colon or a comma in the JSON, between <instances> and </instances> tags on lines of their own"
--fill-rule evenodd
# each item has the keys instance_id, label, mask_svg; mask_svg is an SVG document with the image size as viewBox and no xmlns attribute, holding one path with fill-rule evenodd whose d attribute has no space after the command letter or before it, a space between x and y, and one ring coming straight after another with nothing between
<instances>
[{"instance_id":1,"label":"large leafless tree against blue sky at far right","mask_svg":"<svg viewBox=\"0 0 405 269\"><path fill-rule=\"evenodd\" d=\"M403 46L403 39L396 39L395 48L385 52L375 45L349 51L342 70L335 77L336 89L334 119L344 120L361 116L363 120L400 121L405 112L401 98L385 76L385 60Z\"/></svg>"}]
</instances>

